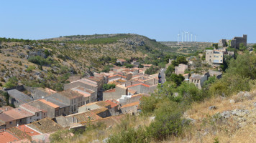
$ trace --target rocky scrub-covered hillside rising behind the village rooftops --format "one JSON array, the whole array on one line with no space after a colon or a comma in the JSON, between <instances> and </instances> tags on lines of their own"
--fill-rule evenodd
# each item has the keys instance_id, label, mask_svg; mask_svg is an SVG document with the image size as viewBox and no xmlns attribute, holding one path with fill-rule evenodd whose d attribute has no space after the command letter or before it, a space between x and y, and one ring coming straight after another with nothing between
<instances>
[{"instance_id":1,"label":"rocky scrub-covered hillside rising behind the village rooftops","mask_svg":"<svg viewBox=\"0 0 256 143\"><path fill-rule=\"evenodd\" d=\"M143 60L156 53L168 54L170 49L137 34L77 35L42 40L0 38L0 88L10 77L17 77L18 82L28 86L60 91L70 75L88 76L114 64L118 58Z\"/></svg>"}]
</instances>

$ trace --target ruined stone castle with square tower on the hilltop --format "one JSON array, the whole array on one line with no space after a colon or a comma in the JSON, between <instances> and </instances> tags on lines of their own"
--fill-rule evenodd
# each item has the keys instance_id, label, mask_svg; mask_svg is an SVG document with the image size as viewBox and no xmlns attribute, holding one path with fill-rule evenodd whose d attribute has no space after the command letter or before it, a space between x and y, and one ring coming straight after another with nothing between
<instances>
[{"instance_id":1,"label":"ruined stone castle with square tower on the hilltop","mask_svg":"<svg viewBox=\"0 0 256 143\"><path fill-rule=\"evenodd\" d=\"M227 47L231 46L232 48L239 49L239 45L243 43L244 46L247 46L247 35L242 35L242 37L235 36L231 40L227 39L220 39L218 46L220 47Z\"/></svg>"}]
</instances>

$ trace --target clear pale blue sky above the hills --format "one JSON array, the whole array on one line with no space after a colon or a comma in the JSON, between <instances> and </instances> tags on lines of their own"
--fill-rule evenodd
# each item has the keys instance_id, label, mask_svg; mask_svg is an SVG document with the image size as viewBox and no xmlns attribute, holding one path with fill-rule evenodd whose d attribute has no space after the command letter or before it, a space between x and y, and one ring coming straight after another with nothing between
<instances>
[{"instance_id":1,"label":"clear pale blue sky above the hills","mask_svg":"<svg viewBox=\"0 0 256 143\"><path fill-rule=\"evenodd\" d=\"M8 0L0 3L0 37L132 33L177 41L179 31L191 31L198 41L247 34L256 43L255 6L254 0Z\"/></svg>"}]
</instances>

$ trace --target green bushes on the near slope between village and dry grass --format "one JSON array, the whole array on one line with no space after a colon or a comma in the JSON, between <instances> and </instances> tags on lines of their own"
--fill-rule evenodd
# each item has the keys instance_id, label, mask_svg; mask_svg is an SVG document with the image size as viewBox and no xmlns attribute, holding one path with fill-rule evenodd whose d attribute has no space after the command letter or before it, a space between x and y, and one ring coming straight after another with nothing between
<instances>
[{"instance_id":1,"label":"green bushes on the near slope between village and dry grass","mask_svg":"<svg viewBox=\"0 0 256 143\"><path fill-rule=\"evenodd\" d=\"M193 129L189 124L191 120L183 118L184 112L191 108L191 104L198 104L212 99L212 97L227 97L239 91L250 91L255 88L255 62L254 54L246 52L237 56L237 59L232 59L229 62L227 71L221 79L211 77L202 90L187 82L182 82L180 86L172 81L165 82L157 87L157 92L153 93L151 97L143 97L141 100L142 116L155 116L155 120L145 128L129 129L123 133L126 136L114 134L110 137L109 142L160 142L169 137L184 136L189 129ZM175 92L178 92L178 96L175 95ZM216 122L213 122L213 119ZM216 119L218 118L209 117L209 119L205 119L205 124L214 125L214 129L218 129L217 126L227 126L226 124L218 125L219 120ZM212 140L216 141L217 139L213 138Z\"/></svg>"}]
</instances>

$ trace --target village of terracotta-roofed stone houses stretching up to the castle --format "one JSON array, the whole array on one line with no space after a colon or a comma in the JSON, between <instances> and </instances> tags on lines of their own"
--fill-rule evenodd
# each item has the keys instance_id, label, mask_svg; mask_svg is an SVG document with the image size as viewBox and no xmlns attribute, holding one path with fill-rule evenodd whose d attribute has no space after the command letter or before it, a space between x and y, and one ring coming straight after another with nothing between
<instances>
[{"instance_id":1,"label":"village of terracotta-roofed stone houses stretching up to the castle","mask_svg":"<svg viewBox=\"0 0 256 143\"><path fill-rule=\"evenodd\" d=\"M234 56L234 51L247 46L247 35L234 37L232 40L221 39L219 44L212 44L211 49L205 49L204 64L209 65L207 71L193 72L196 56L186 58L188 64L175 66L173 74L183 75L185 82L202 89L209 77L221 78L219 68L224 63L224 56ZM201 59L204 55L200 55ZM4 89L9 94L9 103L14 107L0 108L0 142L49 142L50 134L60 129L83 129L88 124L104 122L111 127L119 122L124 114L140 114L140 100L149 97L163 84L165 70L173 64L169 59L165 69L156 74L145 74L152 64L142 64L132 61L132 68L127 68L125 59L117 59L109 72L93 73L90 77L73 75L70 83L64 84L62 92L49 88L27 87L19 85ZM114 85L111 88L104 88Z\"/></svg>"}]
</instances>

